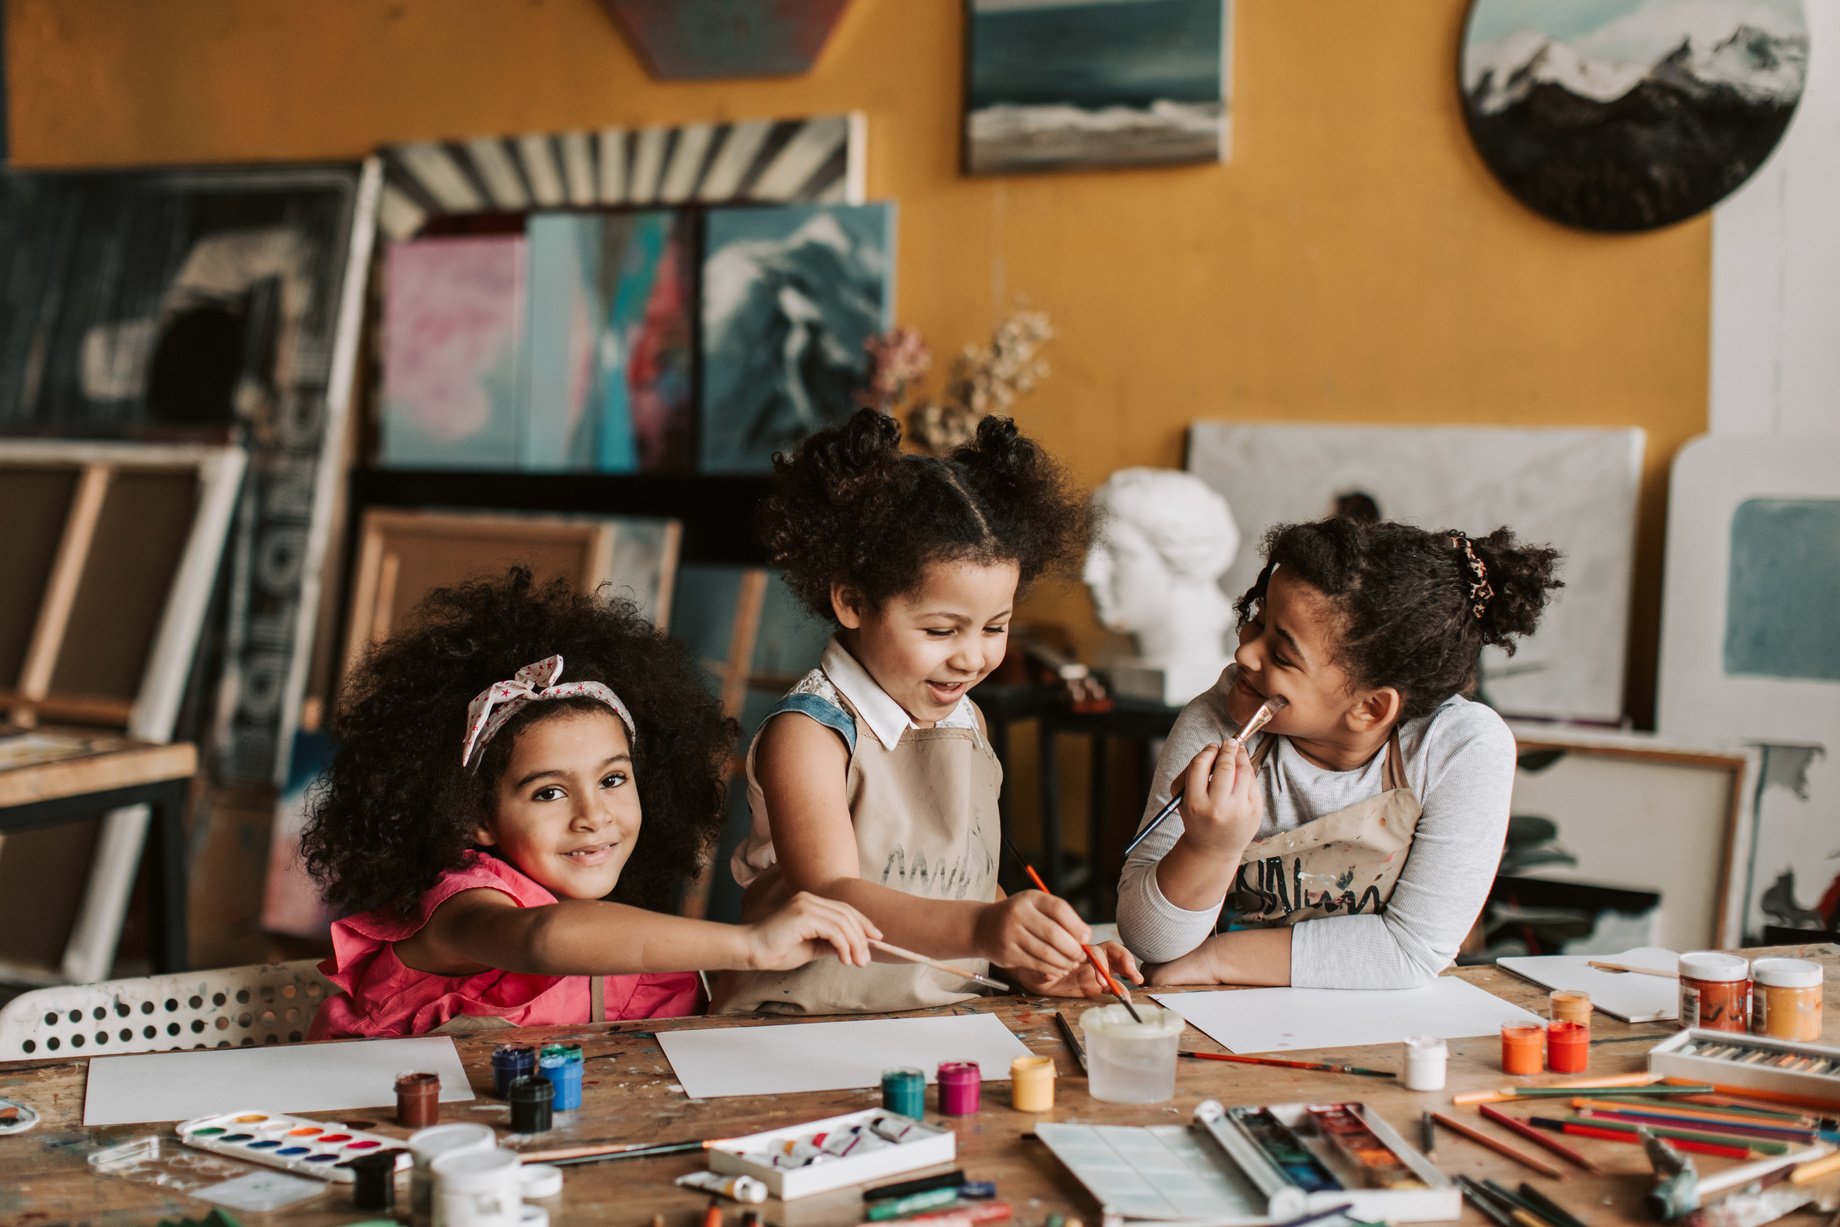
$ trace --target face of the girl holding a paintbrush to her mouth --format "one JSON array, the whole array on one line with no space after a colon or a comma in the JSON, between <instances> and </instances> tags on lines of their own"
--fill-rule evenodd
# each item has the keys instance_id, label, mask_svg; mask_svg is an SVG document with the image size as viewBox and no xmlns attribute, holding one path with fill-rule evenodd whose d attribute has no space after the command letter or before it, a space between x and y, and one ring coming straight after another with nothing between
<instances>
[{"instance_id":1,"label":"face of the girl holding a paintbrush to her mouth","mask_svg":"<svg viewBox=\"0 0 1840 1227\"><path fill-rule=\"evenodd\" d=\"M1397 694L1356 690L1336 664L1338 636L1340 618L1328 598L1279 567L1266 581L1264 602L1240 627L1233 653L1238 671L1227 692L1233 723L1244 725L1260 703L1282 695L1290 706L1266 728L1290 738L1305 756L1334 765L1345 749L1371 752L1373 736L1384 738L1391 727Z\"/></svg>"}]
</instances>

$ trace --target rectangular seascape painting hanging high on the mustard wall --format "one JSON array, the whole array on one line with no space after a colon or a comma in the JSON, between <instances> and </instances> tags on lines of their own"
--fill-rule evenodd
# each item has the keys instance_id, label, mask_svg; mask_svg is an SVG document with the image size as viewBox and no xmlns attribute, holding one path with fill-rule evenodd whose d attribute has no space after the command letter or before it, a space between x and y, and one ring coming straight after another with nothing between
<instances>
[{"instance_id":1,"label":"rectangular seascape painting hanging high on the mustard wall","mask_svg":"<svg viewBox=\"0 0 1840 1227\"><path fill-rule=\"evenodd\" d=\"M1220 162L1229 0L968 0L964 169Z\"/></svg>"}]
</instances>

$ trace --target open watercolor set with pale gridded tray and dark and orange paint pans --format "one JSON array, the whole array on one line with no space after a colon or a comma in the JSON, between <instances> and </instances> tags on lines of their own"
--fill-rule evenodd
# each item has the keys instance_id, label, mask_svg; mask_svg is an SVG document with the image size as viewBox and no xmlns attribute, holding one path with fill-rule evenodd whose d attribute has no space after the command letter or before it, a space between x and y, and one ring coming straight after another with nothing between
<instances>
[{"instance_id":1,"label":"open watercolor set with pale gridded tray and dark and orange paint pans","mask_svg":"<svg viewBox=\"0 0 1840 1227\"><path fill-rule=\"evenodd\" d=\"M1463 1194L1363 1104L1222 1107L1183 1126L1043 1122L1047 1142L1106 1221L1257 1227L1347 1205L1389 1223L1446 1221Z\"/></svg>"}]
</instances>

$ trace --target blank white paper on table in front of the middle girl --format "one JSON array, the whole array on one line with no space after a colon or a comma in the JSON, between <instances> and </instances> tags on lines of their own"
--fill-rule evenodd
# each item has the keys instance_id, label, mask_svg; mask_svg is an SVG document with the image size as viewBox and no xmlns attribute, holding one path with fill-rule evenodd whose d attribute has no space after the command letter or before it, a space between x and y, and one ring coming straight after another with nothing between
<instances>
[{"instance_id":1,"label":"blank white paper on table in front of the middle girl","mask_svg":"<svg viewBox=\"0 0 1840 1227\"><path fill-rule=\"evenodd\" d=\"M795 1095L881 1085L881 1071L977 1061L984 1082L1008 1082L1029 1049L992 1014L659 1032L690 1098Z\"/></svg>"}]
</instances>

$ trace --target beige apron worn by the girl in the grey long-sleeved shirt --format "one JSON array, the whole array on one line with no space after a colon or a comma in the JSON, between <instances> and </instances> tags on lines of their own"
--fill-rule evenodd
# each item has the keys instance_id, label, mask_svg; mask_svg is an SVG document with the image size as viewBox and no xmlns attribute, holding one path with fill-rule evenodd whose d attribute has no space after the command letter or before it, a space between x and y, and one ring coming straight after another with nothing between
<instances>
[{"instance_id":1,"label":"beige apron worn by the girl in the grey long-sleeved shirt","mask_svg":"<svg viewBox=\"0 0 1840 1227\"><path fill-rule=\"evenodd\" d=\"M1253 771L1277 741L1253 751ZM1380 912L1406 868L1422 813L1406 784L1395 730L1386 743L1382 793L1248 844L1227 892L1222 922L1294 925L1323 916Z\"/></svg>"}]
</instances>

